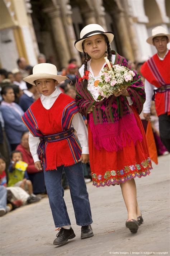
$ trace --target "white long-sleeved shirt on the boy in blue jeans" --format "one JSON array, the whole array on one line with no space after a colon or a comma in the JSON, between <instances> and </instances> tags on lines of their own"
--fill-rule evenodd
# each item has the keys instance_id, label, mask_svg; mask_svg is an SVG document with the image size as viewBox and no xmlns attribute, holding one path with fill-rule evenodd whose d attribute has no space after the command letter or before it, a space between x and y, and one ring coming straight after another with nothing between
<instances>
[{"instance_id":1,"label":"white long-sleeved shirt on the boy in blue jeans","mask_svg":"<svg viewBox=\"0 0 170 256\"><path fill-rule=\"evenodd\" d=\"M58 98L59 95L60 93L58 92L58 90L55 90L49 96L42 95L40 99L43 104L43 107L46 109L50 109L52 105L55 103L55 100ZM74 115L74 117L72 118L71 126L74 127L74 129L77 132L77 137L82 147L82 154L89 154L88 130L86 128L86 125L80 113L76 113ZM29 132L29 148L30 148L30 152L32 154L34 162L39 161L38 154L37 154L39 143L40 143L39 138L34 137Z\"/></svg>"}]
</instances>

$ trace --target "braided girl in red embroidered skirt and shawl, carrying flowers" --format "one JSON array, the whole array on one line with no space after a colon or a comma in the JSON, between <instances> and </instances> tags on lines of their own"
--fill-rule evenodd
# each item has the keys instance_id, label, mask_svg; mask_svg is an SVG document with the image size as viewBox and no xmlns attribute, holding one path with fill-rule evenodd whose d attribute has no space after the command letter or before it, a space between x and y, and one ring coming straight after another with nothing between
<instances>
[{"instance_id":1,"label":"braided girl in red embroidered skirt and shawl, carrying flowers","mask_svg":"<svg viewBox=\"0 0 170 256\"><path fill-rule=\"evenodd\" d=\"M150 174L152 169L145 132L139 117L145 102L141 77L135 73L128 89L97 101L98 83L107 55L112 64L132 67L126 59L110 50L113 32L98 24L84 27L77 50L84 53L85 64L77 72L76 103L88 119L89 156L93 185L119 184L128 211L126 227L136 233L143 222L136 198L134 178Z\"/></svg>"}]
</instances>

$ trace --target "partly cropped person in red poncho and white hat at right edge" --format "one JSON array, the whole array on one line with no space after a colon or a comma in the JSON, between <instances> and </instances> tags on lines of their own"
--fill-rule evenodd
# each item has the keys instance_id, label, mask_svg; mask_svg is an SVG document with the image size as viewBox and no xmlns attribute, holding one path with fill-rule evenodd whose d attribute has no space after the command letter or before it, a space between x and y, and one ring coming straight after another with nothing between
<instances>
[{"instance_id":1,"label":"partly cropped person in red poncho and white hat at right edge","mask_svg":"<svg viewBox=\"0 0 170 256\"><path fill-rule=\"evenodd\" d=\"M150 120L151 100L154 95L160 138L170 152L170 50L167 49L169 40L170 34L165 28L158 26L152 29L152 36L146 41L155 46L157 53L142 65L141 73L145 77L146 92L143 116L147 121Z\"/></svg>"}]
</instances>

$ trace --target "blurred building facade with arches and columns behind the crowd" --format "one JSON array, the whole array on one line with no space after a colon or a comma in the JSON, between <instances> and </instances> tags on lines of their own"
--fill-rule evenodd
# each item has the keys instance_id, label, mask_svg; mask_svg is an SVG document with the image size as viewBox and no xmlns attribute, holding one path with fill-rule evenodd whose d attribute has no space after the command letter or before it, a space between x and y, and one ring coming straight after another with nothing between
<instances>
[{"instance_id":1,"label":"blurred building facade with arches and columns behind the crowd","mask_svg":"<svg viewBox=\"0 0 170 256\"><path fill-rule=\"evenodd\" d=\"M1 0L0 67L11 70L16 59L37 64L39 52L67 67L81 64L74 47L81 29L98 23L114 32L111 48L128 60L143 62L155 53L146 39L156 26L170 31L169 0Z\"/></svg>"}]
</instances>

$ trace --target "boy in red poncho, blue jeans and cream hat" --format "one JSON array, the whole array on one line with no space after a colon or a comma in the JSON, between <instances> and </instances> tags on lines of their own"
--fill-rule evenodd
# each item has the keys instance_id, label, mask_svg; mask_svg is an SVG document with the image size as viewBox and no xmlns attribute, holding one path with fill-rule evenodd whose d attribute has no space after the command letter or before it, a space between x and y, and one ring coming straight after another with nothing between
<instances>
[{"instance_id":1,"label":"boy in red poncho, blue jeans and cream hat","mask_svg":"<svg viewBox=\"0 0 170 256\"><path fill-rule=\"evenodd\" d=\"M82 163L89 161L87 130L75 101L56 90L57 84L65 79L67 77L57 75L56 66L49 63L37 64L33 68L33 75L24 78L29 84L37 86L42 94L25 112L22 120L29 129L29 147L35 167L42 170L43 162L53 220L56 228L60 228L53 241L55 245L64 244L75 237L63 199L63 169L69 182L76 223L82 226L81 239L93 236L90 226L93 221L82 169ZM72 127L77 131L82 151Z\"/></svg>"}]
</instances>

